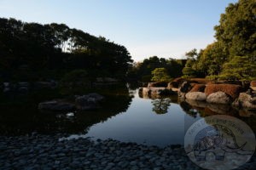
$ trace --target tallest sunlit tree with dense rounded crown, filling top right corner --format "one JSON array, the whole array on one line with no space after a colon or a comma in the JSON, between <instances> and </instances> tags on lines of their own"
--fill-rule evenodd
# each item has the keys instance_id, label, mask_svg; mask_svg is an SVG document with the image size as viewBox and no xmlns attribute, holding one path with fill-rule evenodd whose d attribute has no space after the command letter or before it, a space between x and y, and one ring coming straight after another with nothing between
<instances>
[{"instance_id":1,"label":"tallest sunlit tree with dense rounded crown, filling top right corner","mask_svg":"<svg viewBox=\"0 0 256 170\"><path fill-rule=\"evenodd\" d=\"M256 60L256 3L255 0L239 0L230 3L215 26L215 37L227 49L230 58L248 56Z\"/></svg>"}]
</instances>

